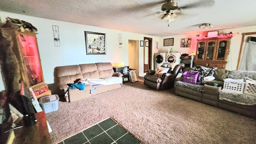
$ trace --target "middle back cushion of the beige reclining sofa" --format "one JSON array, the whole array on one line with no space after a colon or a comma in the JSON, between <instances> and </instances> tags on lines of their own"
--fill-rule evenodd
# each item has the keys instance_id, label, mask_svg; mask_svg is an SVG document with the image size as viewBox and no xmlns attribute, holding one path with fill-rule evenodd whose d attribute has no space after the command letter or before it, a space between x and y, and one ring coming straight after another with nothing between
<instances>
[{"instance_id":1,"label":"middle back cushion of the beige reclining sofa","mask_svg":"<svg viewBox=\"0 0 256 144\"><path fill-rule=\"evenodd\" d=\"M79 64L84 78L100 78L96 64Z\"/></svg>"}]
</instances>

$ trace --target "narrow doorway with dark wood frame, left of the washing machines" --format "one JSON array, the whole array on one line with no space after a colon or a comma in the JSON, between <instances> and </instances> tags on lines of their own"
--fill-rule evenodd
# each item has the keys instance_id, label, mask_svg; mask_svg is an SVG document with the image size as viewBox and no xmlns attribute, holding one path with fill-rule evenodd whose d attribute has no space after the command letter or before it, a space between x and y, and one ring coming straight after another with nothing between
<instances>
[{"instance_id":1,"label":"narrow doorway with dark wood frame, left of the washing machines","mask_svg":"<svg viewBox=\"0 0 256 144\"><path fill-rule=\"evenodd\" d=\"M152 69L152 38L144 37L144 70Z\"/></svg>"}]
</instances>

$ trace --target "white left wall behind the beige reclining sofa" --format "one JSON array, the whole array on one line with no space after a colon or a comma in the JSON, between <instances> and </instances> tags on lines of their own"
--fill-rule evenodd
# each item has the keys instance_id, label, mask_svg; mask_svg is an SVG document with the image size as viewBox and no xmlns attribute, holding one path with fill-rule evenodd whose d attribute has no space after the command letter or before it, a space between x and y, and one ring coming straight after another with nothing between
<instances>
[{"instance_id":1,"label":"white left wall behind the beige reclining sofa","mask_svg":"<svg viewBox=\"0 0 256 144\"><path fill-rule=\"evenodd\" d=\"M128 63L128 40L144 40L150 37L159 40L159 37L148 36L143 34L135 34L131 32L123 32L75 24L70 22L62 22L57 20L49 20L45 18L37 18L8 12L0 12L2 22L6 21L6 17L18 18L26 22L30 22L38 29L37 42L41 58L42 70L45 83L54 82L54 68L56 66L66 66L72 64L88 64L95 62L112 62ZM60 46L54 46L52 25L59 27ZM100 32L106 34L106 55L86 55L84 31ZM122 48L119 48L118 34L122 34ZM143 56L143 49L139 51L139 55ZM143 57L139 59L139 75L143 74ZM2 76L0 77L0 90L4 90Z\"/></svg>"}]
</instances>

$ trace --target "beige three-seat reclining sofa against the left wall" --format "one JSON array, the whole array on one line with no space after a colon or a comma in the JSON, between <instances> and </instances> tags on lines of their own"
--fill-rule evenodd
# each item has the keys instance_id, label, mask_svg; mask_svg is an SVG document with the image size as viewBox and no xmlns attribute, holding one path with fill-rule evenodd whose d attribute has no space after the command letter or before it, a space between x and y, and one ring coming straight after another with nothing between
<instances>
[{"instance_id":1,"label":"beige three-seat reclining sofa against the left wall","mask_svg":"<svg viewBox=\"0 0 256 144\"><path fill-rule=\"evenodd\" d=\"M123 75L114 72L110 62L57 66L54 68L54 84L57 87L56 93L59 96L63 96L66 102L74 102L95 94L121 88L121 84L103 85L96 88L93 94L91 93L92 86L90 84L86 84L84 90L79 90L78 88L68 89L70 84L74 84L83 78L106 79L111 76L122 77ZM64 96L67 91L68 96Z\"/></svg>"}]
</instances>

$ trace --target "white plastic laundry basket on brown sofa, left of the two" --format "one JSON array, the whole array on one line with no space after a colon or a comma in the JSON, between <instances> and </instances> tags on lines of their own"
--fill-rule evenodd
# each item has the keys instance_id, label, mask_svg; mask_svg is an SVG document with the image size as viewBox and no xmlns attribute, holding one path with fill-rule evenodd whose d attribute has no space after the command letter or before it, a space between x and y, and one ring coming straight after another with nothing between
<instances>
[{"instance_id":1,"label":"white plastic laundry basket on brown sofa, left of the two","mask_svg":"<svg viewBox=\"0 0 256 144\"><path fill-rule=\"evenodd\" d=\"M245 82L234 82L232 80L224 79L224 86L222 90L243 93Z\"/></svg>"}]
</instances>

